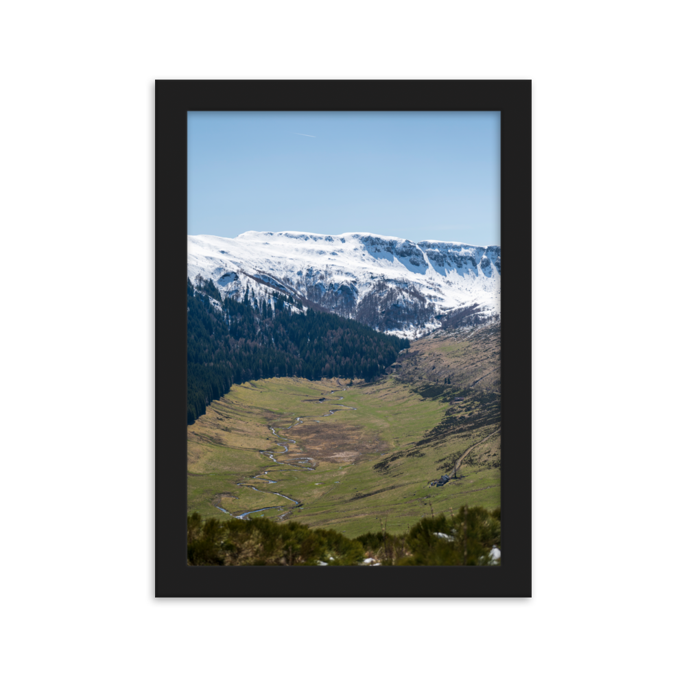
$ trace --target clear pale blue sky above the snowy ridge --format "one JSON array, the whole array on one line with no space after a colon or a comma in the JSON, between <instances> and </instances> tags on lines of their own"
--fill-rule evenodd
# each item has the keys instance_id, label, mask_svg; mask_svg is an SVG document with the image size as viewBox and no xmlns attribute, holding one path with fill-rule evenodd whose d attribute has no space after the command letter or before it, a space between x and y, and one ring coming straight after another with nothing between
<instances>
[{"instance_id":1,"label":"clear pale blue sky above the snowy ridge","mask_svg":"<svg viewBox=\"0 0 686 686\"><path fill-rule=\"evenodd\" d=\"M500 245L497 112L189 112L188 233Z\"/></svg>"}]
</instances>

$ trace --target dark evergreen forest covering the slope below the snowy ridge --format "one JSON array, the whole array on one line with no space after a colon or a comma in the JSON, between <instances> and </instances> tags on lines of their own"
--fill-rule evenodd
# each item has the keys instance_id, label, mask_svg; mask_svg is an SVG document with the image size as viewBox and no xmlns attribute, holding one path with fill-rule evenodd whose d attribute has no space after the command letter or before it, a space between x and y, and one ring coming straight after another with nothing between
<instances>
[{"instance_id":1,"label":"dark evergreen forest covering the slope below the snowy ridge","mask_svg":"<svg viewBox=\"0 0 686 686\"><path fill-rule=\"evenodd\" d=\"M221 303L221 311L211 303ZM370 381L410 343L335 314L307 309L292 296L222 296L211 279L187 279L188 423L233 383L297 376ZM273 306L272 306L273 303Z\"/></svg>"}]
</instances>

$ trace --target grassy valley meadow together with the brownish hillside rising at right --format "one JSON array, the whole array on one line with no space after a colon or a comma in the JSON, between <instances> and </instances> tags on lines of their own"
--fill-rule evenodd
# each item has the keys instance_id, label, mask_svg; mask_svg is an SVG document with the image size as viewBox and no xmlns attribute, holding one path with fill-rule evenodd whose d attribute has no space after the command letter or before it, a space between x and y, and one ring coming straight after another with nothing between
<instances>
[{"instance_id":1,"label":"grassy valley meadow together with the brownish hillside rising at right","mask_svg":"<svg viewBox=\"0 0 686 686\"><path fill-rule=\"evenodd\" d=\"M413 342L374 383L277 377L232 386L188 427L188 511L231 519L272 508L250 517L354 538L382 523L401 534L432 511L497 508L499 364L498 325ZM270 427L295 441L287 453ZM428 485L456 466L446 486Z\"/></svg>"}]
</instances>

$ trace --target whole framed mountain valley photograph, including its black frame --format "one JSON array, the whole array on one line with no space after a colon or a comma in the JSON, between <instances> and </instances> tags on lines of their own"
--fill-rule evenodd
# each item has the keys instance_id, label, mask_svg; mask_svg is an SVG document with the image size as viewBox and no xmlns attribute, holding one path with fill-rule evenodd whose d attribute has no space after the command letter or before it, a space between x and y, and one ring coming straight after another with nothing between
<instances>
[{"instance_id":1,"label":"whole framed mountain valley photograph, including its black frame","mask_svg":"<svg viewBox=\"0 0 686 686\"><path fill-rule=\"evenodd\" d=\"M157 595L530 596L530 82L156 89Z\"/></svg>"}]
</instances>

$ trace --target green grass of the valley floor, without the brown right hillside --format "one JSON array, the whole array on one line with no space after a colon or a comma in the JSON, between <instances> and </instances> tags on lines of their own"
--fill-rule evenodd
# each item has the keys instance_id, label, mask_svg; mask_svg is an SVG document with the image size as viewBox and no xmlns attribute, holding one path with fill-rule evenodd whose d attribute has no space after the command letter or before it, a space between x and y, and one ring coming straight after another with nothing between
<instances>
[{"instance_id":1,"label":"green grass of the valley floor, without the brown right hillside","mask_svg":"<svg viewBox=\"0 0 686 686\"><path fill-rule=\"evenodd\" d=\"M337 392L331 394L334 389ZM327 396L333 399L322 404L303 402ZM340 396L344 397L343 401L338 400ZM357 410L322 417L329 408L338 409L335 407L338 403ZM477 404L476 401L466 403L462 414L468 414ZM268 510L255 517L263 514L274 519L289 510L289 521L305 523L311 528L331 528L355 537L379 530L381 521L386 523L389 532L400 533L423 516L431 515L429 502L434 513L449 512L449 508L464 504L499 506L499 469L466 466L460 470L464 478L459 481L442 488L426 485L440 476L437 462L453 453L464 452L488 434L492 430L490 426L451 434L423 445L418 451L423 453L421 456L407 455L417 452L412 444L439 425L446 412L444 403L422 402L410 386L392 377L344 389L331 380L312 382L287 378L235 386L189 427L189 472L197 475L188 479L188 510L200 512L203 518L228 517L214 504L220 504L217 494L230 493L235 500L227 503L230 506L224 506L232 514L279 505L284 510ZM224 421L218 421L218 413ZM285 429L297 416L305 417L305 424ZM321 423L314 423L314 418L319 418ZM315 457L316 471L289 471L287 466L261 456L259 449L273 447L281 451L267 425L284 427L277 429L279 434L296 440L295 445L289 444L288 456ZM231 431L223 431L224 428ZM241 446L252 442L255 449L215 445L217 438ZM490 443L486 445L492 448ZM356 447L359 450L354 450ZM355 464L329 460L332 455L355 452L359 453ZM275 456L283 460L278 454ZM394 457L397 459L388 462L388 469L374 469L375 464ZM278 483L260 483L252 478L263 471L268 471L267 477ZM237 486L239 482L303 501L303 509L294 509L293 503L279 496ZM427 495L429 499L425 499Z\"/></svg>"}]
</instances>

